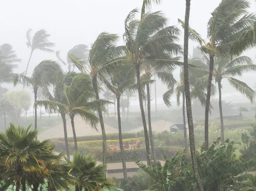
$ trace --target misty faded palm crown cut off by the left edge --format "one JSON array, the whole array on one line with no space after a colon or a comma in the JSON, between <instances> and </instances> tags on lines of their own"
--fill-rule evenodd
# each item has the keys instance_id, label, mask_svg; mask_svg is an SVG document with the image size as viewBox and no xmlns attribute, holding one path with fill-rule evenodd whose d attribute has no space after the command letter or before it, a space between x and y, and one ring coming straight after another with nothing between
<instances>
[{"instance_id":1,"label":"misty faded palm crown cut off by the left edge","mask_svg":"<svg viewBox=\"0 0 256 191\"><path fill-rule=\"evenodd\" d=\"M1 84L10 83L13 80L13 69L17 68L15 62L21 62L21 59L17 59L12 46L10 44L0 45L0 94L2 94Z\"/></svg>"}]
</instances>

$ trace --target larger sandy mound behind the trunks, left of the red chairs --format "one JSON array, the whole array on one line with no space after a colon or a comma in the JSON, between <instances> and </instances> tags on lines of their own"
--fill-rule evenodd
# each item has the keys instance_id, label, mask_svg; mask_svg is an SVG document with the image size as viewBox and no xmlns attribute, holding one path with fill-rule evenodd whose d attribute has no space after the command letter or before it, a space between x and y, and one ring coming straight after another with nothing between
<instances>
[{"instance_id":1,"label":"larger sandy mound behind the trunks, left of the red chairs","mask_svg":"<svg viewBox=\"0 0 256 191\"><path fill-rule=\"evenodd\" d=\"M97 126L98 131L96 129L92 129L92 127L86 122L84 122L82 118L79 116L75 117L74 123L75 123L75 129L76 129L76 136L101 135L100 123ZM106 134L118 133L117 129L110 127L109 125L106 125L106 124L105 124L105 130L106 130ZM73 137L70 120L67 120L67 132L68 132L68 137ZM64 137L62 123L60 123L55 127L52 127L51 129L47 129L42 133L39 132L39 135L38 135L39 140L59 138L59 137Z\"/></svg>"}]
</instances>

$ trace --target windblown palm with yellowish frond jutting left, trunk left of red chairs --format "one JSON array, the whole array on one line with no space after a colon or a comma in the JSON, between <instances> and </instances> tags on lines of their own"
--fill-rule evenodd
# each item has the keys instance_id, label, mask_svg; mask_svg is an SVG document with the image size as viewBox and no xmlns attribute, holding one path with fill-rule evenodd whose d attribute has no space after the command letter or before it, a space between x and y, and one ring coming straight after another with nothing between
<instances>
[{"instance_id":1,"label":"windblown palm with yellowish frond jutting left, trunk left of red chairs","mask_svg":"<svg viewBox=\"0 0 256 191\"><path fill-rule=\"evenodd\" d=\"M95 92L96 100L100 100L99 97L99 83L105 78L105 74L108 71L117 71L116 64L119 61L124 60L120 56L124 55L125 48L123 46L116 47L118 35L110 33L100 33L97 39L91 46L88 56L88 63L76 58L74 55L69 55L69 58L74 62L79 70L88 72L92 77L92 85ZM102 132L102 144L103 144L103 164L107 164L107 137L102 116L102 107L98 107L98 114L100 119L100 127Z\"/></svg>"}]
</instances>

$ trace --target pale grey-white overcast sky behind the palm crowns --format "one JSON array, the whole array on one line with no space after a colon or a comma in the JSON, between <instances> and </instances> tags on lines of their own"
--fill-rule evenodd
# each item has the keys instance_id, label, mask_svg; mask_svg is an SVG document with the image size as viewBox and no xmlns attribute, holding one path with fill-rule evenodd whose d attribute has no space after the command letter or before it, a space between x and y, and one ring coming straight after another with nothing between
<instances>
[{"instance_id":1,"label":"pale grey-white overcast sky behind the palm crowns","mask_svg":"<svg viewBox=\"0 0 256 191\"><path fill-rule=\"evenodd\" d=\"M191 1L190 26L202 37L206 37L208 19L219 3L220 0ZM124 33L125 17L132 9L141 8L141 4L142 0L2 0L0 44L9 43L13 46L18 57L22 59L18 71L23 72L30 54L26 45L28 29L33 29L31 36L36 31L45 29L52 35L50 41L56 43L54 50L60 50L62 58L66 58L69 49L77 44L90 45L103 31L117 33L121 37ZM252 7L252 11L255 10L255 4ZM154 6L153 11L157 10L163 10L169 18L169 25L178 25L178 18L184 20L185 0L163 0L162 5ZM183 44L183 34L180 38L180 44ZM119 44L123 44L122 38ZM190 42L189 54L192 55L193 46L196 45ZM255 49L246 55L255 61ZM28 73L44 59L57 60L54 53L36 50ZM255 73L250 72L243 77L252 88L256 81L254 75ZM179 77L178 74L176 76ZM232 89L224 85L224 93L229 93Z\"/></svg>"}]
</instances>

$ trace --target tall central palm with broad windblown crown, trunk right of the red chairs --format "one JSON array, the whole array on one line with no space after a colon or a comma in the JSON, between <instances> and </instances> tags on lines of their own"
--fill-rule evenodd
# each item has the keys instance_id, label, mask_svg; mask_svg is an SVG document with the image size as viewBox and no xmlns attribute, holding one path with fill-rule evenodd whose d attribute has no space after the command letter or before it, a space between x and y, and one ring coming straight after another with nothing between
<instances>
[{"instance_id":1,"label":"tall central palm with broad windblown crown, trunk right of the red chairs","mask_svg":"<svg viewBox=\"0 0 256 191\"><path fill-rule=\"evenodd\" d=\"M124 41L128 51L127 58L136 68L137 89L144 128L147 161L149 164L149 138L143 108L142 87L140 84L141 65L148 62L155 66L160 63L161 65L165 64L166 67L168 65L172 66L173 59L167 52L174 54L180 53L179 46L171 49L174 40L173 36L178 34L179 29L175 26L165 27L167 19L161 11L146 13L142 15L140 21L135 19L136 13L138 13L137 9L132 10L125 19Z\"/></svg>"}]
</instances>

